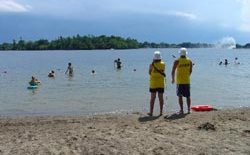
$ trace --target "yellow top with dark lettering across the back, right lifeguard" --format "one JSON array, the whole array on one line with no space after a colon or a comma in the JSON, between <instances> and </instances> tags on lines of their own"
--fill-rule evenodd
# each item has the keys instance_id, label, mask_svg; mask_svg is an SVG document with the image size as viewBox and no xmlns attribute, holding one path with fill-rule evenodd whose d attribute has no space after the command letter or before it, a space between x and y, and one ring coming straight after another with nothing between
<instances>
[{"instance_id":1,"label":"yellow top with dark lettering across the back, right lifeguard","mask_svg":"<svg viewBox=\"0 0 250 155\"><path fill-rule=\"evenodd\" d=\"M190 67L191 60L187 57L179 58L176 71L176 83L177 84L190 84Z\"/></svg>"}]
</instances>

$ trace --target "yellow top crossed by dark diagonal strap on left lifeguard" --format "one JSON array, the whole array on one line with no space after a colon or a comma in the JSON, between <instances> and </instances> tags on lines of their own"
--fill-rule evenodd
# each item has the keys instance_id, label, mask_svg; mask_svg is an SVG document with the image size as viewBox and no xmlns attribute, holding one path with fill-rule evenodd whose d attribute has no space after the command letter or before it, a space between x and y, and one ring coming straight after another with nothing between
<instances>
[{"instance_id":1,"label":"yellow top crossed by dark diagonal strap on left lifeguard","mask_svg":"<svg viewBox=\"0 0 250 155\"><path fill-rule=\"evenodd\" d=\"M165 71L165 63L163 61L154 62L154 66L162 72ZM150 74L150 88L164 88L164 85L164 76L156 71L156 69L152 66Z\"/></svg>"}]
</instances>

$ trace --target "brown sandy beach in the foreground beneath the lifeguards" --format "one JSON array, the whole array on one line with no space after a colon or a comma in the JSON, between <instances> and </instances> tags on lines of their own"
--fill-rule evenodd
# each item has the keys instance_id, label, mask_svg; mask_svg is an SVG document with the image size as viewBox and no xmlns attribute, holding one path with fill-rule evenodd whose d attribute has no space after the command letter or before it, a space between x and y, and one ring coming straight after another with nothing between
<instances>
[{"instance_id":1,"label":"brown sandy beach in the foreground beneath the lifeguards","mask_svg":"<svg viewBox=\"0 0 250 155\"><path fill-rule=\"evenodd\" d=\"M250 108L0 118L2 155L250 154Z\"/></svg>"}]
</instances>

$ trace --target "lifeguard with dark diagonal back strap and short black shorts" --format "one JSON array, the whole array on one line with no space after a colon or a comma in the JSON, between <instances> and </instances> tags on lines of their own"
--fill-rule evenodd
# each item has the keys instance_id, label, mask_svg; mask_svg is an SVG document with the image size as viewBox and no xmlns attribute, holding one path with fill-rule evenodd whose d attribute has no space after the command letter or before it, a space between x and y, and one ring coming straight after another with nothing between
<instances>
[{"instance_id":1,"label":"lifeguard with dark diagonal back strap and short black shorts","mask_svg":"<svg viewBox=\"0 0 250 155\"><path fill-rule=\"evenodd\" d=\"M150 111L148 113L149 116L153 115L154 104L156 94L158 93L159 104L160 104L160 115L163 112L163 93L165 87L165 63L161 59L160 51L154 52L153 62L149 65L149 75L150 75L150 87L149 92L151 93L150 99Z\"/></svg>"}]
</instances>

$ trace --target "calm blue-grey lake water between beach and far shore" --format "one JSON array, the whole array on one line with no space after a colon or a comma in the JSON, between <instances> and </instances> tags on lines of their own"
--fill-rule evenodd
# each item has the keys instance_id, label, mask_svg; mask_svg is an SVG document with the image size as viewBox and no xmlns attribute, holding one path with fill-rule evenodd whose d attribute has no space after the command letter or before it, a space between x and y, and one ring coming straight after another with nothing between
<instances>
[{"instance_id":1,"label":"calm blue-grey lake water between beach and far shore","mask_svg":"<svg viewBox=\"0 0 250 155\"><path fill-rule=\"evenodd\" d=\"M177 111L175 85L170 72L178 49L160 49L167 64L165 111ZM148 66L154 49L94 51L0 52L0 115L86 115L116 112L146 112L149 108ZM117 71L113 61L121 58ZM192 104L216 108L249 107L250 50L189 49L195 63ZM234 65L238 57L240 65ZM227 58L231 64L219 66ZM74 77L64 72L72 62ZM47 74L55 70L56 78ZM92 75L91 70L96 74ZM133 71L136 69L136 71ZM7 71L7 73L4 73ZM42 82L28 90L35 75ZM155 112L158 113L158 101Z\"/></svg>"}]
</instances>

